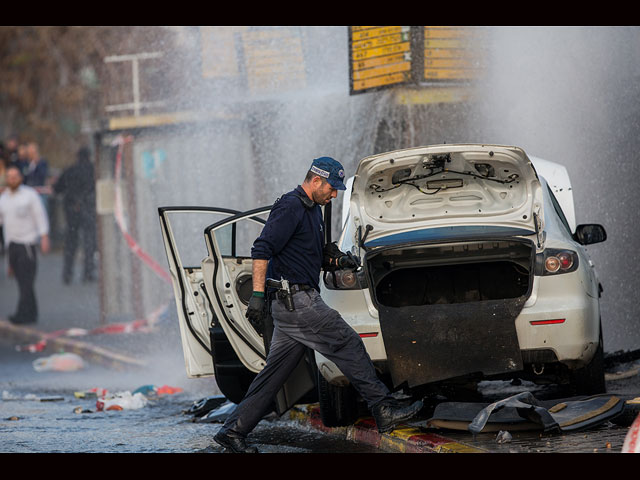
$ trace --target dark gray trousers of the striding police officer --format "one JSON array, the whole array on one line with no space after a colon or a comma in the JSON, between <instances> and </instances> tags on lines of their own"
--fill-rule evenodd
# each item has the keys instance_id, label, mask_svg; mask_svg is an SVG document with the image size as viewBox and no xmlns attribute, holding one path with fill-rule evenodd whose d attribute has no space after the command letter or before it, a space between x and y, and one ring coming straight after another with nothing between
<instances>
[{"instance_id":1,"label":"dark gray trousers of the striding police officer","mask_svg":"<svg viewBox=\"0 0 640 480\"><path fill-rule=\"evenodd\" d=\"M293 296L295 310L274 300L273 338L267 362L223 429L246 436L272 410L276 394L309 347L333 361L366 401L369 408L388 399L390 392L376 376L362 339L329 307L315 290Z\"/></svg>"}]
</instances>

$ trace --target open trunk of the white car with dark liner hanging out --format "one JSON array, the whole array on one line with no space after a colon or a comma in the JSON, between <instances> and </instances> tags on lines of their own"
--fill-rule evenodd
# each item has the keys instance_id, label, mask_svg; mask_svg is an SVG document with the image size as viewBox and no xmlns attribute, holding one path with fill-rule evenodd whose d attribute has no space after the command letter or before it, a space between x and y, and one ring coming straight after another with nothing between
<instances>
[{"instance_id":1,"label":"open trunk of the white car with dark liner hanging out","mask_svg":"<svg viewBox=\"0 0 640 480\"><path fill-rule=\"evenodd\" d=\"M394 386L523 368L515 319L535 245L503 238L370 250L369 285Z\"/></svg>"}]
</instances>

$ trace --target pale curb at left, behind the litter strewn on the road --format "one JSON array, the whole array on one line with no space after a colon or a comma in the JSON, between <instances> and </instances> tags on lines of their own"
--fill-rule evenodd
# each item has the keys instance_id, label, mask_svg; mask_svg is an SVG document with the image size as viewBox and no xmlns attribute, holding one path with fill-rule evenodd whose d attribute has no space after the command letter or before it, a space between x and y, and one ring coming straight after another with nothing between
<instances>
[{"instance_id":1,"label":"pale curb at left, behind the litter strewn on the road","mask_svg":"<svg viewBox=\"0 0 640 480\"><path fill-rule=\"evenodd\" d=\"M35 328L13 325L6 320L0 319L0 335L8 340L29 343L42 340L46 334ZM75 353L93 363L116 369L146 366L146 363L139 359L69 338L58 337L48 339L46 349L53 351L64 350L65 352Z\"/></svg>"}]
</instances>

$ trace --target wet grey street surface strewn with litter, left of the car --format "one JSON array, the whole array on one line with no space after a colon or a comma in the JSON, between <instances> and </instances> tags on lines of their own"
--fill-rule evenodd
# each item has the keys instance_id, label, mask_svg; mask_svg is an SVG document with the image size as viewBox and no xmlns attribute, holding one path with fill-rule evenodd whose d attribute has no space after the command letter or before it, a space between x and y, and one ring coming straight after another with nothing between
<instances>
[{"instance_id":1,"label":"wet grey street surface strewn with litter, left of the car","mask_svg":"<svg viewBox=\"0 0 640 480\"><path fill-rule=\"evenodd\" d=\"M222 453L213 441L220 423L197 423L185 412L198 400L220 392L213 378L189 379L175 305L151 329L61 336L35 347L43 334L61 329L93 330L100 324L97 283L61 282L62 256L39 258L34 325L8 321L17 300L15 280L0 257L0 452L2 453ZM131 323L135 319L123 319ZM108 326L113 326L109 324ZM77 371L37 372L33 362L64 350L83 359ZM181 389L148 396L144 408L98 411L96 398L76 392L94 388L134 392L153 385ZM287 418L261 422L252 432L265 453L384 453L376 447L318 431Z\"/></svg>"}]
</instances>

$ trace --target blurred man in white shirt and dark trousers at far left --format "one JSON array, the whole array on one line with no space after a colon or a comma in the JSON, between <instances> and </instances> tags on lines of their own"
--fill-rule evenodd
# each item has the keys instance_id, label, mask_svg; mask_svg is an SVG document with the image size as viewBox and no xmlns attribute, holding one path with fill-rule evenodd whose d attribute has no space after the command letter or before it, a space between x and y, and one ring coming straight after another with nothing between
<instances>
[{"instance_id":1,"label":"blurred man in white shirt and dark trousers at far left","mask_svg":"<svg viewBox=\"0 0 640 480\"><path fill-rule=\"evenodd\" d=\"M34 283L37 267L37 244L42 253L49 251L49 219L35 189L23 185L16 167L6 172L7 189L0 195L0 224L9 252L9 267L18 282L20 297L12 323L34 323L38 318Z\"/></svg>"}]
</instances>

